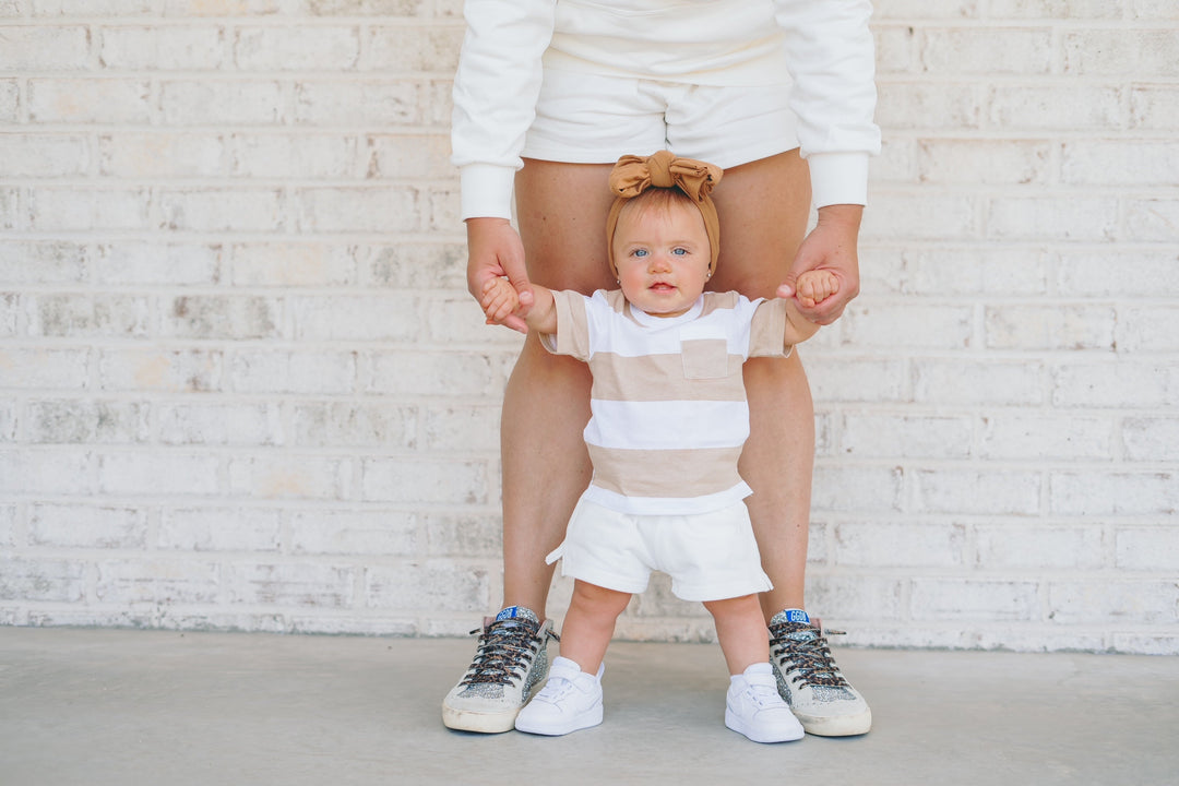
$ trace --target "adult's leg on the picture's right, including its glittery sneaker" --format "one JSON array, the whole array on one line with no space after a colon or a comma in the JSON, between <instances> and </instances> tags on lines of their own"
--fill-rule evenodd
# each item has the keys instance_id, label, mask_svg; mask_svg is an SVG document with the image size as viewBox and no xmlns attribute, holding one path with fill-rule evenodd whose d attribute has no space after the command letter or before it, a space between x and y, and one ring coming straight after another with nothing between
<instances>
[{"instance_id":1,"label":"adult's leg on the picture's right, including its glittery sneaker","mask_svg":"<svg viewBox=\"0 0 1179 786\"><path fill-rule=\"evenodd\" d=\"M772 297L793 260L809 216L810 180L797 151L733 167L713 191L720 219L716 289ZM745 364L750 438L740 473L762 564L773 589L762 596L770 656L788 686L783 698L811 734L843 737L871 728L863 696L844 679L803 609L806 535L815 453L810 388L797 355Z\"/></svg>"}]
</instances>

